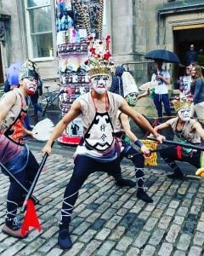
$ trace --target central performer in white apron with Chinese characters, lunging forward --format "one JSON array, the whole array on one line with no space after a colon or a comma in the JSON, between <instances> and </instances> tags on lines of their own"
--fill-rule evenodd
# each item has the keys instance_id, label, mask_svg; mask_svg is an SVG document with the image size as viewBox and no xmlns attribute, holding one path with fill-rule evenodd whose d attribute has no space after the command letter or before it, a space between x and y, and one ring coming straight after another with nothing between
<instances>
[{"instance_id":1,"label":"central performer in white apron with Chinese characters, lunging forward","mask_svg":"<svg viewBox=\"0 0 204 256\"><path fill-rule=\"evenodd\" d=\"M93 172L111 172L113 176L121 175L120 147L116 138L113 137L118 109L127 113L144 129L153 132L153 136L159 142L164 138L153 130L141 114L130 108L122 96L107 91L111 85L110 37L106 38L106 45L102 41L94 41L91 37L88 39L88 75L91 90L73 102L70 111L55 126L48 142L42 148L42 153L50 154L54 140L73 119L81 115L84 135L77 146L74 171L65 188L59 218L58 244L65 250L72 247L69 223L82 184Z\"/></svg>"}]
</instances>

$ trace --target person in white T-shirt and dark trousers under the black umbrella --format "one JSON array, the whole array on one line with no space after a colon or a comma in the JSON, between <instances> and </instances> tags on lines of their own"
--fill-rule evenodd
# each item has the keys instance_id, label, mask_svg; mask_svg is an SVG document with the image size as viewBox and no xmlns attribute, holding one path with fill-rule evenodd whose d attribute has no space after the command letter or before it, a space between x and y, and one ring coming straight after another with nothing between
<instances>
[{"instance_id":1,"label":"person in white T-shirt and dark trousers under the black umbrella","mask_svg":"<svg viewBox=\"0 0 204 256\"><path fill-rule=\"evenodd\" d=\"M156 83L153 100L159 118L162 118L162 102L168 116L171 116L167 85L170 84L170 74L162 69L162 61L156 60L156 71L151 76L151 82ZM161 120L159 120L160 122Z\"/></svg>"}]
</instances>

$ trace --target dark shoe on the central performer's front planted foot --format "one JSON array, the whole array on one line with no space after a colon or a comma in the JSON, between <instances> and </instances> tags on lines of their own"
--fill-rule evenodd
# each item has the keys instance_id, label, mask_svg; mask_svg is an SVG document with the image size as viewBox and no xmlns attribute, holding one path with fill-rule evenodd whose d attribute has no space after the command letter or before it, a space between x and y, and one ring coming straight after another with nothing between
<instances>
[{"instance_id":1,"label":"dark shoe on the central performer's front planted foot","mask_svg":"<svg viewBox=\"0 0 204 256\"><path fill-rule=\"evenodd\" d=\"M69 250L72 247L69 226L59 225L58 245L63 250Z\"/></svg>"}]
</instances>

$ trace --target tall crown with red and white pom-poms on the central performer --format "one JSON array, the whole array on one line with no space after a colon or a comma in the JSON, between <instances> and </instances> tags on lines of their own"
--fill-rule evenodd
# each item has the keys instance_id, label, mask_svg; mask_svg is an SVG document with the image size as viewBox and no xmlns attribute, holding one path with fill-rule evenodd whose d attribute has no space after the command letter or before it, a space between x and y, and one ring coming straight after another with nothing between
<instances>
[{"instance_id":1,"label":"tall crown with red and white pom-poms on the central performer","mask_svg":"<svg viewBox=\"0 0 204 256\"><path fill-rule=\"evenodd\" d=\"M107 36L103 42L88 37L88 60L85 64L88 65L89 78L98 75L111 76L111 67L114 63L111 61L110 38Z\"/></svg>"}]
</instances>

